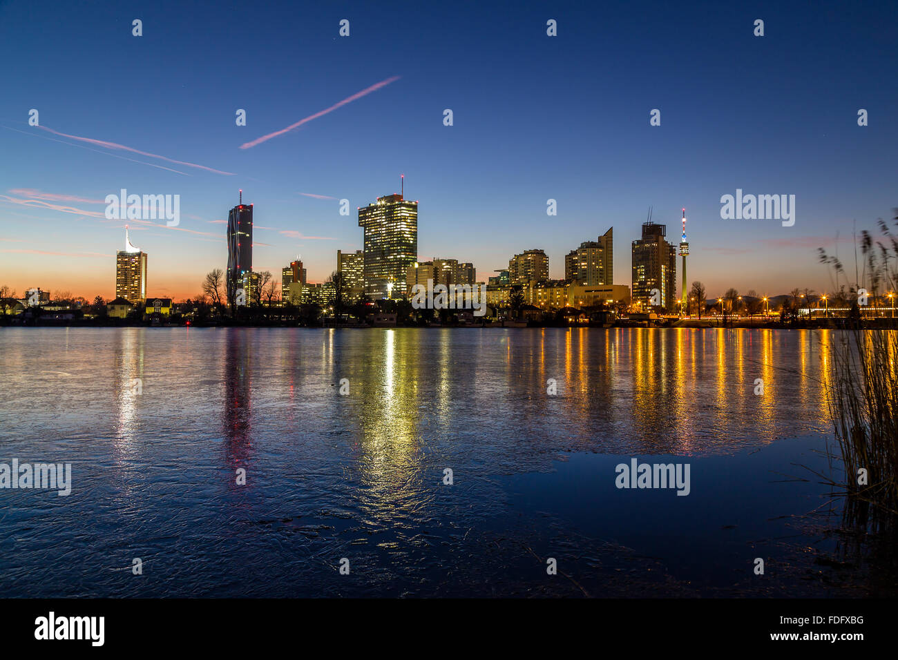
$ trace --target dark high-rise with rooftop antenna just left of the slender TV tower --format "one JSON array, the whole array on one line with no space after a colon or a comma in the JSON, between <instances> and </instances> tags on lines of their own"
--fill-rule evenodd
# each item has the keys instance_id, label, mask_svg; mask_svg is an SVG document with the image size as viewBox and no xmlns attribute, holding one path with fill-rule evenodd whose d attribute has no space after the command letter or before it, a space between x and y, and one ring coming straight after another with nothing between
<instances>
[{"instance_id":1,"label":"dark high-rise with rooftop antenna just left of the slender TV tower","mask_svg":"<svg viewBox=\"0 0 898 660\"><path fill-rule=\"evenodd\" d=\"M659 302L668 312L676 302L676 247L665 240L667 227L651 220L642 224L642 238L633 242L633 302L643 309ZM653 300L653 291L659 296Z\"/></svg>"}]
</instances>

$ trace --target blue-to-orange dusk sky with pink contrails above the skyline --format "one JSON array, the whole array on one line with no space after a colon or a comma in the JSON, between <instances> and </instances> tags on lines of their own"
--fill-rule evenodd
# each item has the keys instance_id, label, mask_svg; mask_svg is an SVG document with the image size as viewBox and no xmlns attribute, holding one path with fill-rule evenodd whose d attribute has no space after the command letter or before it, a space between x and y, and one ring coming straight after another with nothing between
<instances>
[{"instance_id":1,"label":"blue-to-orange dusk sky with pink contrails above the skyline","mask_svg":"<svg viewBox=\"0 0 898 660\"><path fill-rule=\"evenodd\" d=\"M226 267L238 189L253 269L300 255L311 281L362 248L356 207L401 174L419 258L484 281L533 248L563 277L613 225L629 285L648 207L674 242L686 207L689 281L709 296L828 290L816 248L853 264L852 221L898 206L894 2L492 6L0 2L0 284L112 297L119 189L180 195L178 227L128 223L149 295L179 300ZM722 220L736 189L795 195L796 224Z\"/></svg>"}]
</instances>

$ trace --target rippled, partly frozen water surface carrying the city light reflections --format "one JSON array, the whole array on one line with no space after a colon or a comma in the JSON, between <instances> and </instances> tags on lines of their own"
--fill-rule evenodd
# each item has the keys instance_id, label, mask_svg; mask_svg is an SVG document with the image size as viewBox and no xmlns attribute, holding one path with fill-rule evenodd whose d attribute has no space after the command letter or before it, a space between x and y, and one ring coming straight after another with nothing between
<instances>
[{"instance_id":1,"label":"rippled, partly frozen water surface carrying the city light reflections","mask_svg":"<svg viewBox=\"0 0 898 660\"><path fill-rule=\"evenodd\" d=\"M456 594L446 575L478 560L462 594L496 589L487 548L501 563L507 538L577 547L563 521L512 521L504 475L571 452L724 456L828 431L827 337L6 329L0 418L15 423L0 428L0 460L73 462L75 484L67 498L0 491L0 567L19 579L0 594ZM350 555L365 579L335 583L334 558ZM135 556L157 567L139 585L121 570ZM62 558L57 583L34 577ZM508 560L502 593L523 561Z\"/></svg>"}]
</instances>

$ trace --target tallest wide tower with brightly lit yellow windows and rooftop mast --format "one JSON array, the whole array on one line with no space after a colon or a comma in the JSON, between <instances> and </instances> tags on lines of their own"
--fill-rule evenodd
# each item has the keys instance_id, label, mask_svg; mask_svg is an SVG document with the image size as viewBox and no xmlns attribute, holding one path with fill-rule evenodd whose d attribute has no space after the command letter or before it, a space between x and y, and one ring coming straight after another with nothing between
<instances>
[{"instance_id":1,"label":"tallest wide tower with brightly lit yellow windows and rooftop mast","mask_svg":"<svg viewBox=\"0 0 898 660\"><path fill-rule=\"evenodd\" d=\"M365 295L404 295L409 266L418 260L418 202L401 193L377 198L359 207L358 226L365 230Z\"/></svg>"}]
</instances>

